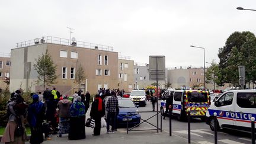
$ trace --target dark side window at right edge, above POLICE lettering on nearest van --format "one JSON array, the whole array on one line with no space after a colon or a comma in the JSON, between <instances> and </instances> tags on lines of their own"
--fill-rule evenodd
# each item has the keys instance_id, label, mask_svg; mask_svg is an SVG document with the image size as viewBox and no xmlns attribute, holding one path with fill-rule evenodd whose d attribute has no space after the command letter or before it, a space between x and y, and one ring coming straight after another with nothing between
<instances>
[{"instance_id":1,"label":"dark side window at right edge, above POLICE lettering on nearest van","mask_svg":"<svg viewBox=\"0 0 256 144\"><path fill-rule=\"evenodd\" d=\"M243 108L256 108L256 92L238 92L236 103Z\"/></svg>"}]
</instances>

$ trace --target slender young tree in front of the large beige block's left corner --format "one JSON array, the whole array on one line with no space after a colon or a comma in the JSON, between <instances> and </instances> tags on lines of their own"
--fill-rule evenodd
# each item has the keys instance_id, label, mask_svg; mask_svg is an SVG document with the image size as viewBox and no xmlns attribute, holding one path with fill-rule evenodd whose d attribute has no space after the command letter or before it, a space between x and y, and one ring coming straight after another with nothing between
<instances>
[{"instance_id":1,"label":"slender young tree in front of the large beige block's left corner","mask_svg":"<svg viewBox=\"0 0 256 144\"><path fill-rule=\"evenodd\" d=\"M42 54L38 59L36 59L36 63L34 63L34 68L39 74L37 76L38 81L43 82L43 88L45 88L46 85L56 83L57 66L54 65L52 57L47 50L46 53Z\"/></svg>"}]
</instances>

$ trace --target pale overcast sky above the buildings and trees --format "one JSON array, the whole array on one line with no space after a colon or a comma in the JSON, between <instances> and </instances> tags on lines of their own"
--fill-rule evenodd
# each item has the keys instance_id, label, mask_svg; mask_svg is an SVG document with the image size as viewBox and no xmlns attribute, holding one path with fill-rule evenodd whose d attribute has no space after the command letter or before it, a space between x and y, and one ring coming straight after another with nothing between
<instances>
[{"instance_id":1,"label":"pale overcast sky above the buildings and trees","mask_svg":"<svg viewBox=\"0 0 256 144\"><path fill-rule=\"evenodd\" d=\"M166 66L203 66L217 57L234 31L256 32L255 0L129 1L1 1L0 50L42 36L105 44L114 52L148 63L149 55L165 55ZM206 63L206 66L209 64Z\"/></svg>"}]
</instances>

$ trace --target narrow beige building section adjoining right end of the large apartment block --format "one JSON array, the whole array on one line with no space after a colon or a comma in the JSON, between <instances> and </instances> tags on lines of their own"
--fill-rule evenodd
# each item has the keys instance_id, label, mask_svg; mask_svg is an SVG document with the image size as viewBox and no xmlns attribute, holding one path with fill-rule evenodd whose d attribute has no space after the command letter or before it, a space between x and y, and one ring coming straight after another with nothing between
<instances>
[{"instance_id":1,"label":"narrow beige building section adjoining right end of the large apartment block","mask_svg":"<svg viewBox=\"0 0 256 144\"><path fill-rule=\"evenodd\" d=\"M133 60L130 60L128 56L119 56L118 60L118 78L119 83L117 88L124 89L124 91L132 91L133 89Z\"/></svg>"}]
</instances>

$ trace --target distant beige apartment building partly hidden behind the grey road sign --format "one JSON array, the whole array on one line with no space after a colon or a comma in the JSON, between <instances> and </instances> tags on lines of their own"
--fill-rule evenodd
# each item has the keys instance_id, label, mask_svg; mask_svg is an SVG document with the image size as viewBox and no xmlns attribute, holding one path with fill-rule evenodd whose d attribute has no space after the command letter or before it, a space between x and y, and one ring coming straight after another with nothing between
<instances>
[{"instance_id":1,"label":"distant beige apartment building partly hidden behind the grey road sign","mask_svg":"<svg viewBox=\"0 0 256 144\"><path fill-rule=\"evenodd\" d=\"M135 63L133 68L134 76L134 89L145 89L148 85L155 83L156 81L149 80L149 64L148 63ZM165 88L167 82L167 70L165 72L165 81L158 81L160 88Z\"/></svg>"}]
</instances>

